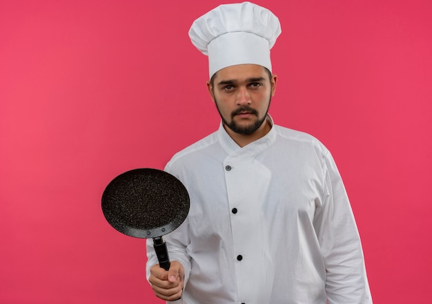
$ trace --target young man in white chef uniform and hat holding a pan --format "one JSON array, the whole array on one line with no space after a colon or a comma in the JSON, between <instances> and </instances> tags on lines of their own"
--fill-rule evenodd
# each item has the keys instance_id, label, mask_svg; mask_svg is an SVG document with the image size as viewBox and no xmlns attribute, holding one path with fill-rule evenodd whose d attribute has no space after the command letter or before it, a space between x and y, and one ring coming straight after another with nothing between
<instances>
[{"instance_id":1,"label":"young man in white chef uniform and hat holding a pan","mask_svg":"<svg viewBox=\"0 0 432 304\"><path fill-rule=\"evenodd\" d=\"M177 153L166 171L190 194L190 212L166 236L170 270L148 242L159 298L203 303L372 303L360 237L342 179L313 136L268 115L277 77L275 15L252 3L197 19L190 38L208 54L215 133Z\"/></svg>"}]
</instances>

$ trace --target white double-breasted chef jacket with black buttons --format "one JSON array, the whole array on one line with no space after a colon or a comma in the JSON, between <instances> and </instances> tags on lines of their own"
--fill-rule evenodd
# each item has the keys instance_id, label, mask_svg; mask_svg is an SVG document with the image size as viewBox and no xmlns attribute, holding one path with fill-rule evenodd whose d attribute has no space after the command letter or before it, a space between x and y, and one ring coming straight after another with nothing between
<instances>
[{"instance_id":1,"label":"white double-breasted chef jacket with black buttons","mask_svg":"<svg viewBox=\"0 0 432 304\"><path fill-rule=\"evenodd\" d=\"M342 179L313 136L273 125L240 148L221 123L165 170L190 195L186 221L164 236L185 269L174 303L372 303ZM147 255L148 277L151 239Z\"/></svg>"}]
</instances>

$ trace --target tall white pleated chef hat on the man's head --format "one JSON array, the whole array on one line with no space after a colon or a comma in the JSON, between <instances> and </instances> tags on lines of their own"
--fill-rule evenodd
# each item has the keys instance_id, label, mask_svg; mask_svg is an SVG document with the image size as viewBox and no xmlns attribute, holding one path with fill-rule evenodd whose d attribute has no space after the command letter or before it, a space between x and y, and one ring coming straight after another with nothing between
<instances>
[{"instance_id":1,"label":"tall white pleated chef hat on the man's head","mask_svg":"<svg viewBox=\"0 0 432 304\"><path fill-rule=\"evenodd\" d=\"M208 55L210 78L237 64L262 65L271 71L270 49L281 33L279 19L251 2L224 4L195 20L189 37Z\"/></svg>"}]
</instances>

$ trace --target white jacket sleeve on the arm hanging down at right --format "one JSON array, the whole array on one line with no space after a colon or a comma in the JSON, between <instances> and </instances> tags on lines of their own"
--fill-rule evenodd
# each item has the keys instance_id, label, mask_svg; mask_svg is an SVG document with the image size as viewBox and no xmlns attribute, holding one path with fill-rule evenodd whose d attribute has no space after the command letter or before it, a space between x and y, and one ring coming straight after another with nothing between
<instances>
[{"instance_id":1,"label":"white jacket sleeve on the arm hanging down at right","mask_svg":"<svg viewBox=\"0 0 432 304\"><path fill-rule=\"evenodd\" d=\"M342 178L328 150L322 165L324 193L314 226L326 265L328 304L370 304L360 235Z\"/></svg>"}]
</instances>

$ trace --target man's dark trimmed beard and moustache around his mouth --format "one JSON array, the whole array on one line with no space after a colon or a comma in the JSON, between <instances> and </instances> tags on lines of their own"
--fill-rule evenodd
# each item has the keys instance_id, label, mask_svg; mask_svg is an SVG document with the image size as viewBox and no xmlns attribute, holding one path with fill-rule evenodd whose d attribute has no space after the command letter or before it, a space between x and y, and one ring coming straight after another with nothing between
<instances>
[{"instance_id":1,"label":"man's dark trimmed beard and moustache around his mouth","mask_svg":"<svg viewBox=\"0 0 432 304\"><path fill-rule=\"evenodd\" d=\"M228 122L225 119L225 117L222 115L221 111L219 110L219 107L217 106L217 101L215 102L215 104L216 104L217 111L219 112L219 115L222 118L222 123L224 123L224 125L226 125L228 128L230 128L230 130L232 130L233 132L235 132L237 134L249 135L249 134L252 134L253 132L255 132L256 130L258 130L259 127L261 127L261 125L264 123L264 121L266 121L268 108L270 108L270 102L271 102L271 97L268 99L268 106L266 109L266 113L262 116L261 119L259 118L259 113L257 110L249 107L248 105L242 105L241 107L239 107L236 110L234 110L233 112L231 112L230 122ZM246 126L239 125L238 123L235 122L234 117L237 114L240 114L242 112L251 113L251 114L257 116L257 119L255 119L255 121L253 123L251 123L250 125L246 125Z\"/></svg>"}]
</instances>

